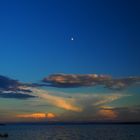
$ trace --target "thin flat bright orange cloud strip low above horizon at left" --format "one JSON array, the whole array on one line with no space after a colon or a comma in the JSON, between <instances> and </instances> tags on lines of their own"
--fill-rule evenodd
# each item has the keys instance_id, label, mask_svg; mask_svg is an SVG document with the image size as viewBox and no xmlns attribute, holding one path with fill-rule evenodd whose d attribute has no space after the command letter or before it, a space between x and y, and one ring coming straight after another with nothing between
<instances>
[{"instance_id":1,"label":"thin flat bright orange cloud strip low above horizon at left","mask_svg":"<svg viewBox=\"0 0 140 140\"><path fill-rule=\"evenodd\" d=\"M53 113L33 113L33 114L19 114L16 115L18 118L33 118L33 119L52 119L55 118L55 115Z\"/></svg>"}]
</instances>

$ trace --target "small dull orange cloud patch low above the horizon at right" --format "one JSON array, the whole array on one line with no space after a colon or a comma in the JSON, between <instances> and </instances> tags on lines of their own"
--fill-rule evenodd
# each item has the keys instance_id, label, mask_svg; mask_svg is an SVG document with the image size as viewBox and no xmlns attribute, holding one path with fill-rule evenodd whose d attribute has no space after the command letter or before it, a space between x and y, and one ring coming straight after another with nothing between
<instances>
[{"instance_id":1,"label":"small dull orange cloud patch low above the horizon at right","mask_svg":"<svg viewBox=\"0 0 140 140\"><path fill-rule=\"evenodd\" d=\"M115 112L115 111L113 111L111 109L102 109L102 110L99 110L98 114L101 117L109 118L109 119L115 119L117 117L117 112Z\"/></svg>"}]
</instances>

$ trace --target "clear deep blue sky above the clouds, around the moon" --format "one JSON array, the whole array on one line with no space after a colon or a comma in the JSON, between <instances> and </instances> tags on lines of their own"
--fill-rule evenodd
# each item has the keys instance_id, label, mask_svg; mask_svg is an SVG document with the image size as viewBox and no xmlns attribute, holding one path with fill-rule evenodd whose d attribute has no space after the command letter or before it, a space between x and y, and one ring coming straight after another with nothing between
<instances>
[{"instance_id":1,"label":"clear deep blue sky above the clouds, around the moon","mask_svg":"<svg viewBox=\"0 0 140 140\"><path fill-rule=\"evenodd\" d=\"M0 75L140 75L139 15L138 0L0 1Z\"/></svg>"}]
</instances>

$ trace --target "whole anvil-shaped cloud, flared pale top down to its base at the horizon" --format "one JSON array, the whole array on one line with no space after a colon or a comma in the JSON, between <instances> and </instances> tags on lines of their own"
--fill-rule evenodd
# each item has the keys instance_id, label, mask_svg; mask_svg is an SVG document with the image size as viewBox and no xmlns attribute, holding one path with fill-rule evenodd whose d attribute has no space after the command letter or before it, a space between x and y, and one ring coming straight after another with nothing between
<instances>
[{"instance_id":1,"label":"whole anvil-shaped cloud, flared pale top down to its base at the horizon","mask_svg":"<svg viewBox=\"0 0 140 140\"><path fill-rule=\"evenodd\" d=\"M81 94L81 93L49 93L45 90L35 90L40 98L46 100L50 105L56 108L64 109L63 112L59 114L57 119L59 121L95 121L95 120L114 120L117 119L117 111L111 110L111 108L105 108L110 103L116 100L128 97L130 95L122 93L104 93L104 94ZM47 94L47 95L46 95ZM48 98L48 95L51 98ZM53 99L54 98L54 99ZM72 108L68 109L57 102L57 100L63 100L66 104L70 105ZM72 102L71 102L72 101ZM104 108L103 108L104 106ZM73 109L76 108L75 109ZM102 108L101 108L102 107ZM78 109L78 110L77 110Z\"/></svg>"}]
</instances>

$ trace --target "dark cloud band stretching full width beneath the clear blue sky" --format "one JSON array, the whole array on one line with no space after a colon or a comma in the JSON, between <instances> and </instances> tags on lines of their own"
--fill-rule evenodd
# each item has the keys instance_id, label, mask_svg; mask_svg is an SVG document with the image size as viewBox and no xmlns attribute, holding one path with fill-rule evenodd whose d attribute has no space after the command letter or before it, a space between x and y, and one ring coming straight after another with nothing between
<instances>
[{"instance_id":1,"label":"dark cloud band stretching full width beneath the clear blue sky","mask_svg":"<svg viewBox=\"0 0 140 140\"><path fill-rule=\"evenodd\" d=\"M131 85L140 84L140 77L112 78L109 75L97 74L52 74L45 77L42 82L45 84L22 83L5 76L0 76L0 97L28 99L35 97L30 95L33 92L24 87L52 86L58 88L91 87L102 85L108 89L121 90Z\"/></svg>"}]
</instances>

